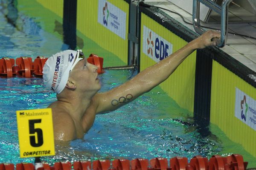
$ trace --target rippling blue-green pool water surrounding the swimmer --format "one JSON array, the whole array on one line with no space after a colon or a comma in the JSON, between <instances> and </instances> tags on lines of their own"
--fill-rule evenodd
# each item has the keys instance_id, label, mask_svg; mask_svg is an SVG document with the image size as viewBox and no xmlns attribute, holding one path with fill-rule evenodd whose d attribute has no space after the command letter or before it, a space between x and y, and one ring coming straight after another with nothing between
<instances>
[{"instance_id":1,"label":"rippling blue-green pool water surrounding the swimmer","mask_svg":"<svg viewBox=\"0 0 256 170\"><path fill-rule=\"evenodd\" d=\"M15 11L10 14L16 17L14 25L6 19L8 10L0 6L0 11L0 57L35 59L68 48L61 38L41 29L40 22ZM86 40L89 41L92 40ZM97 51L91 52L97 54ZM105 54L110 55L108 51ZM132 71L106 71L99 77L100 91L108 91L135 75ZM19 158L16 111L47 108L55 100L55 94L44 87L41 78L0 79L0 163L34 161L33 158ZM241 145L231 142L215 125L180 108L159 87L116 111L97 115L84 139L56 143L55 152L55 156L42 160L53 164L56 161L117 158L184 156L191 159L196 155L210 158L215 154L238 153L249 161L249 167L256 167L255 159Z\"/></svg>"}]
</instances>

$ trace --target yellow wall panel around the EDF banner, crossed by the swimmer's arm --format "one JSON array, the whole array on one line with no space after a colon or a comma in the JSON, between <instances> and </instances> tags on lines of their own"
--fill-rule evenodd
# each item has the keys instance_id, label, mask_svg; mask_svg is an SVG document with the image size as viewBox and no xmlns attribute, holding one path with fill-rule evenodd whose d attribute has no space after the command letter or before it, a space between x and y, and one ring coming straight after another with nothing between
<instances>
[{"instance_id":1,"label":"yellow wall panel around the EDF banner, crossed by the swimmer's arm","mask_svg":"<svg viewBox=\"0 0 256 170\"><path fill-rule=\"evenodd\" d=\"M171 42L173 45L173 52L187 44L185 40L164 28L145 14L141 14L141 40L143 40L143 26L148 27L165 40ZM141 47L143 47L142 41ZM160 87L166 91L180 107L188 109L190 112L194 111L195 61L196 52L193 52L165 82L160 84ZM155 63L156 62L153 59L143 53L143 49L141 48L140 71Z\"/></svg>"}]
</instances>

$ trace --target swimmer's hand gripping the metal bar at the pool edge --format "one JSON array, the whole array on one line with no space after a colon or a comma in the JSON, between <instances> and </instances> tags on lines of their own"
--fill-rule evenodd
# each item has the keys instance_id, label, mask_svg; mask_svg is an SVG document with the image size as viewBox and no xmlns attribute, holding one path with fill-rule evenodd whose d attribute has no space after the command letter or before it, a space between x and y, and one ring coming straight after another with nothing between
<instances>
[{"instance_id":1,"label":"swimmer's hand gripping the metal bar at the pool edge","mask_svg":"<svg viewBox=\"0 0 256 170\"><path fill-rule=\"evenodd\" d=\"M221 34L218 31L206 31L200 37L195 39L198 49L203 49L209 46L215 46L220 42Z\"/></svg>"}]
</instances>

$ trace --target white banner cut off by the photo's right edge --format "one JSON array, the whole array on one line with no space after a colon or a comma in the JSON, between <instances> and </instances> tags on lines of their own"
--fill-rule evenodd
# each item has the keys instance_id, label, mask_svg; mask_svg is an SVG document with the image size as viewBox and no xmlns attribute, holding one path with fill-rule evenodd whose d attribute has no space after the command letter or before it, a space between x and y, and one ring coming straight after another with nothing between
<instances>
[{"instance_id":1,"label":"white banner cut off by the photo's right edge","mask_svg":"<svg viewBox=\"0 0 256 170\"><path fill-rule=\"evenodd\" d=\"M256 100L236 88L235 116L256 130Z\"/></svg>"}]
</instances>

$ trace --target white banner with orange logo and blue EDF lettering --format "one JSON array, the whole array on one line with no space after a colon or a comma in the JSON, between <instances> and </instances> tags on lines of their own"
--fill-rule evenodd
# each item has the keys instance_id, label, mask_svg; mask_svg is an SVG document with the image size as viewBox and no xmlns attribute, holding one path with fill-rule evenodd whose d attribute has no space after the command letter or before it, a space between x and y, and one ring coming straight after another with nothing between
<instances>
[{"instance_id":1,"label":"white banner with orange logo and blue EDF lettering","mask_svg":"<svg viewBox=\"0 0 256 170\"><path fill-rule=\"evenodd\" d=\"M172 44L143 26L143 53L156 62L172 54Z\"/></svg>"}]
</instances>

